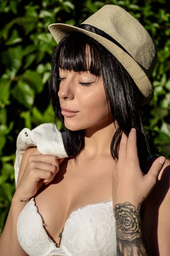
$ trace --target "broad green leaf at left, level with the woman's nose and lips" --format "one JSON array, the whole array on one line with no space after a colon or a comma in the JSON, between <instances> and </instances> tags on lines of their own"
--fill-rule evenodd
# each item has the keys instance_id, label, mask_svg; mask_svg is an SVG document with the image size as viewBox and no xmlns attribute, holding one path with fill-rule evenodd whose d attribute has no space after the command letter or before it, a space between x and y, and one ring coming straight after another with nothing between
<instances>
[{"instance_id":1,"label":"broad green leaf at left, level with the woman's nose and lips","mask_svg":"<svg viewBox=\"0 0 170 256\"><path fill-rule=\"evenodd\" d=\"M19 79L17 85L11 90L11 93L18 102L27 108L31 108L34 103L35 93L26 81Z\"/></svg>"}]
</instances>

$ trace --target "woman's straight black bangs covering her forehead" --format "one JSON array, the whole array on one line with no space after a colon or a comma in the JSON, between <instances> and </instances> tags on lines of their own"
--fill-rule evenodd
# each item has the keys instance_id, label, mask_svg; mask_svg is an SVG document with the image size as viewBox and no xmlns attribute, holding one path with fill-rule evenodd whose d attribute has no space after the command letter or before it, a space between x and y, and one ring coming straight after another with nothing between
<instances>
[{"instance_id":1,"label":"woman's straight black bangs covering her forehead","mask_svg":"<svg viewBox=\"0 0 170 256\"><path fill-rule=\"evenodd\" d=\"M79 36L77 32L70 32L69 36L60 41L54 56L57 69L60 67L74 72L89 70L91 74L101 76L101 63L96 41L84 34Z\"/></svg>"}]
</instances>

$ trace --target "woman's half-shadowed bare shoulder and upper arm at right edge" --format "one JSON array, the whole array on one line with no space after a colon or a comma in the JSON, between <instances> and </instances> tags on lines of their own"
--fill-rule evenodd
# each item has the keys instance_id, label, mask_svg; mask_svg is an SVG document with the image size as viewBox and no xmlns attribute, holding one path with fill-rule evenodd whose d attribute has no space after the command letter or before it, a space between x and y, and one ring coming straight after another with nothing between
<instances>
[{"instance_id":1,"label":"woman's half-shadowed bare shoulder and upper arm at right edge","mask_svg":"<svg viewBox=\"0 0 170 256\"><path fill-rule=\"evenodd\" d=\"M156 160L157 157L154 157ZM148 168L152 161L148 163ZM142 224L151 255L168 256L170 252L170 160L166 159L156 185L144 201Z\"/></svg>"}]
</instances>

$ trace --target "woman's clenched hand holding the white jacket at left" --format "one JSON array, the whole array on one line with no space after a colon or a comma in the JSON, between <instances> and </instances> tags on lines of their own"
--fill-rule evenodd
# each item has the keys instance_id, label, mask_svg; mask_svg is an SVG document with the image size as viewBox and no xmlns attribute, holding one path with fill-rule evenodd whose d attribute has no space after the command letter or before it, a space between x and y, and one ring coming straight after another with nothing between
<instances>
[{"instance_id":1,"label":"woman's clenched hand holding the white jacket at left","mask_svg":"<svg viewBox=\"0 0 170 256\"><path fill-rule=\"evenodd\" d=\"M64 159L57 159L52 154L41 154L38 149L34 150L28 157L23 176L15 191L15 196L23 201L33 197L44 184L47 185L54 179L59 171L59 164Z\"/></svg>"}]
</instances>

